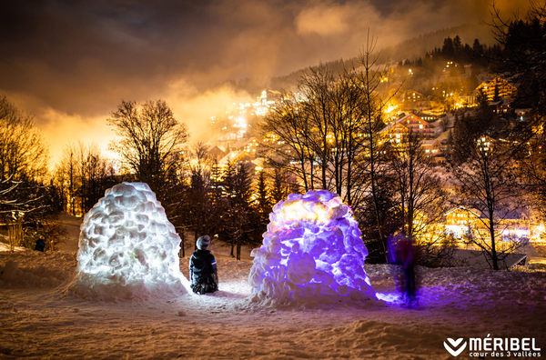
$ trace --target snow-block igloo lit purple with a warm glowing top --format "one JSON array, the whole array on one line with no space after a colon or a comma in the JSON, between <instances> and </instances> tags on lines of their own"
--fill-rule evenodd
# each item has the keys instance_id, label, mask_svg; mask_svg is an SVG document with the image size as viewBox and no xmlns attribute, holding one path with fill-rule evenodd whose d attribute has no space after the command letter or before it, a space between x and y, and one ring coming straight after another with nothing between
<instances>
[{"instance_id":1,"label":"snow-block igloo lit purple with a warm glowing top","mask_svg":"<svg viewBox=\"0 0 546 360\"><path fill-rule=\"evenodd\" d=\"M252 250L251 299L271 304L376 300L368 255L349 206L329 191L291 194L273 207L263 245Z\"/></svg>"}]
</instances>

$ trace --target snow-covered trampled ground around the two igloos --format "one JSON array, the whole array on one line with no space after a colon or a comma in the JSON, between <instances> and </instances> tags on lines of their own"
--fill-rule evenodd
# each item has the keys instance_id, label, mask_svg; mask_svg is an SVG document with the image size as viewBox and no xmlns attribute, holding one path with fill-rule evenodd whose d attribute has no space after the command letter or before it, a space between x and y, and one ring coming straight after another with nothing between
<instances>
[{"instance_id":1,"label":"snow-covered trampled ground around the two igloos","mask_svg":"<svg viewBox=\"0 0 546 360\"><path fill-rule=\"evenodd\" d=\"M366 265L383 305L275 308L248 300L251 261L216 254L213 295L106 303L63 295L75 253L0 252L0 359L450 359L448 337L487 335L535 338L546 357L543 272L419 268L408 308L389 265Z\"/></svg>"}]
</instances>

